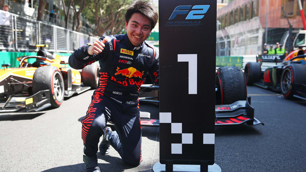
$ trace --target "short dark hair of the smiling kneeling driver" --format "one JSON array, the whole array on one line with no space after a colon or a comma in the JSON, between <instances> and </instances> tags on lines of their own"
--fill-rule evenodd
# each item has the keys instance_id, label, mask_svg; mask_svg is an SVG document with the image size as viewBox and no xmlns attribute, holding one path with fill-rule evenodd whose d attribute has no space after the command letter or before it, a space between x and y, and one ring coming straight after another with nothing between
<instances>
[{"instance_id":1,"label":"short dark hair of the smiling kneeling driver","mask_svg":"<svg viewBox=\"0 0 306 172\"><path fill-rule=\"evenodd\" d=\"M130 18L134 13L140 13L145 17L148 17L152 25L151 30L155 27L158 20L158 13L156 8L150 2L142 0L136 0L132 2L132 4L126 10L125 14L126 23L129 22Z\"/></svg>"}]
</instances>

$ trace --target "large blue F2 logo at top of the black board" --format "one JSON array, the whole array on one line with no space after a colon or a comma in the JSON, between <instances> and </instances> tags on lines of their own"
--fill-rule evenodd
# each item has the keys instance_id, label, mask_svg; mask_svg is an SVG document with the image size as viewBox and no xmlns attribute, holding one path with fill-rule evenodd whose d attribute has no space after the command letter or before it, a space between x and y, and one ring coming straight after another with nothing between
<instances>
[{"instance_id":1,"label":"large blue F2 logo at top of the black board","mask_svg":"<svg viewBox=\"0 0 306 172\"><path fill-rule=\"evenodd\" d=\"M177 14L187 14L191 6L177 6L172 12L169 20L172 20L176 17ZM202 9L202 10L192 10L188 13L186 19L201 19L204 15L196 15L193 14L205 14L209 9L210 5L197 5L193 6L192 9Z\"/></svg>"}]
</instances>

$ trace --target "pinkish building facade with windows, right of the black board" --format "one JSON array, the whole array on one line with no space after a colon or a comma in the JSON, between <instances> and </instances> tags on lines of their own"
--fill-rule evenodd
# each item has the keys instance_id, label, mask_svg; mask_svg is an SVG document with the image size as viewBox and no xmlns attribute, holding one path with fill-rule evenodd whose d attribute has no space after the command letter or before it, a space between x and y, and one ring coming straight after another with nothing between
<instances>
[{"instance_id":1,"label":"pinkish building facade with windows, right of the black board","mask_svg":"<svg viewBox=\"0 0 306 172\"><path fill-rule=\"evenodd\" d=\"M305 11L304 0L302 4ZM302 29L298 0L234 0L218 9L217 56L261 54L264 43L275 48L289 28L281 7L293 29Z\"/></svg>"}]
</instances>

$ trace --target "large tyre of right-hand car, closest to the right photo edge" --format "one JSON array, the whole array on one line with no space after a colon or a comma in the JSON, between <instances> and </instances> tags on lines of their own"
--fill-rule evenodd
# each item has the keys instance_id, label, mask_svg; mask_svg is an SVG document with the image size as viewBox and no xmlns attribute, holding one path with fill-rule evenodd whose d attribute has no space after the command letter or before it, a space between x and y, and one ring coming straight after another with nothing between
<instances>
[{"instance_id":1,"label":"large tyre of right-hand car, closest to the right photo edge","mask_svg":"<svg viewBox=\"0 0 306 172\"><path fill-rule=\"evenodd\" d=\"M289 64L284 67L281 74L281 94L285 98L292 98L295 89L295 83L306 84L306 67L302 64Z\"/></svg>"}]
</instances>

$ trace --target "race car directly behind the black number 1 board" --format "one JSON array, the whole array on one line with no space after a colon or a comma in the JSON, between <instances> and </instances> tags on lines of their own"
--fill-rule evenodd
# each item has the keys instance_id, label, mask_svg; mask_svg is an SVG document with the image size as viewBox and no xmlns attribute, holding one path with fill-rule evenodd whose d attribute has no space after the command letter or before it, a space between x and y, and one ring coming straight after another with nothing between
<instances>
[{"instance_id":1,"label":"race car directly behind the black number 1 board","mask_svg":"<svg viewBox=\"0 0 306 172\"><path fill-rule=\"evenodd\" d=\"M264 125L254 117L254 108L250 105L251 97L247 97L245 77L239 67L227 66L218 68L215 86L216 126L244 123ZM144 84L141 86L140 95L145 95L142 92L146 92L148 89L158 90L158 88L156 85ZM139 97L139 101L140 110L142 110L141 102L159 103L158 96ZM151 119L150 113L141 112L140 117L142 126L159 127L159 120Z\"/></svg>"}]
</instances>

